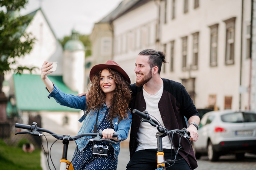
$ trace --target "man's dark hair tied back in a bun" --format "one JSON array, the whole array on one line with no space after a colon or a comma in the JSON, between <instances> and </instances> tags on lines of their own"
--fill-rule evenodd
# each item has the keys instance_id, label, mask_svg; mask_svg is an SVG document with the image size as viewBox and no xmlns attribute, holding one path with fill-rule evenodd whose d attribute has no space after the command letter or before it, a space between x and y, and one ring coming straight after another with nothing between
<instances>
[{"instance_id":1,"label":"man's dark hair tied back in a bun","mask_svg":"<svg viewBox=\"0 0 256 170\"><path fill-rule=\"evenodd\" d=\"M141 56L149 56L148 64L150 68L158 67L158 74L161 72L162 63L166 63L165 54L162 51L146 49L139 53Z\"/></svg>"}]
</instances>

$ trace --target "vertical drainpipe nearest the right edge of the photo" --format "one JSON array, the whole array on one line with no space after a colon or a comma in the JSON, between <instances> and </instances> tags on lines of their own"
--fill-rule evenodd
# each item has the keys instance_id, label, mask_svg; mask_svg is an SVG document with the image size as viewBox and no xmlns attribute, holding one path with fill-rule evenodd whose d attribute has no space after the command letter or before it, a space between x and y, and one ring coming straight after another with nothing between
<instances>
[{"instance_id":1,"label":"vertical drainpipe nearest the right edge of the photo","mask_svg":"<svg viewBox=\"0 0 256 170\"><path fill-rule=\"evenodd\" d=\"M251 78L252 78L252 39L253 39L253 0L251 0L251 25L250 25L250 76L249 76L249 87L248 87L248 109L250 110L251 100Z\"/></svg>"}]
</instances>

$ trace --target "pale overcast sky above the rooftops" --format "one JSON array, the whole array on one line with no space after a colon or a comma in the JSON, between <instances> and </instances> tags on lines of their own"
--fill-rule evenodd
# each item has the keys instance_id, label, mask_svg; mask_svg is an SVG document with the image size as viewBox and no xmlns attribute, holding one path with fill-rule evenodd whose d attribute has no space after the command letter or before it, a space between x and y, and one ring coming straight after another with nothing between
<instances>
[{"instance_id":1,"label":"pale overcast sky above the rooftops","mask_svg":"<svg viewBox=\"0 0 256 170\"><path fill-rule=\"evenodd\" d=\"M58 39L71 34L75 28L80 34L90 34L97 23L122 0L29 0L21 15L40 6Z\"/></svg>"}]
</instances>

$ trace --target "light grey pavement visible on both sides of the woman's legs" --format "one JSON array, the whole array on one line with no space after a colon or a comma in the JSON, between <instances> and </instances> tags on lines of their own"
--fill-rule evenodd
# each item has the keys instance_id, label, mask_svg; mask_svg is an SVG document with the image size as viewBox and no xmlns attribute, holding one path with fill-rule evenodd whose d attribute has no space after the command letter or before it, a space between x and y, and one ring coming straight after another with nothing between
<instances>
[{"instance_id":1,"label":"light grey pavement visible on both sides of the woman's legs","mask_svg":"<svg viewBox=\"0 0 256 170\"><path fill-rule=\"evenodd\" d=\"M52 146L52 141L48 142L48 147L49 147L49 152L50 152L50 147ZM47 143L44 142L44 149L47 148ZM73 153L76 149L76 144L75 142L70 142L68 145L68 152L67 152L67 160L71 161L73 158ZM52 156L52 161L53 164L56 168L56 170L59 170L60 168L60 159L62 156L62 141L57 141L53 144L52 149L51 149L51 156ZM43 170L55 170L55 168L52 165L51 159L49 157L49 165L50 169L48 167L47 159L44 154L41 154L41 161L42 162L42 168ZM117 164L117 170L125 170L126 165L128 164L129 161L129 148L128 147L121 147L119 156L118 156L118 164ZM44 166L45 165L45 166Z\"/></svg>"}]
</instances>

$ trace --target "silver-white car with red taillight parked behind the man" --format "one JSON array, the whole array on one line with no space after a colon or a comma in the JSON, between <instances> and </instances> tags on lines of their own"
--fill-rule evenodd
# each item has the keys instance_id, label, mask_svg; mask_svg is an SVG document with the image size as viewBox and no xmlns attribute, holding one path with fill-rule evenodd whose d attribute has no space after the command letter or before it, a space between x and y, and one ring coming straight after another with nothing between
<instances>
[{"instance_id":1,"label":"silver-white car with red taillight parked behind the man","mask_svg":"<svg viewBox=\"0 0 256 170\"><path fill-rule=\"evenodd\" d=\"M235 153L243 159L245 152L256 153L256 113L250 111L211 111L206 113L198 128L199 138L193 142L197 159L207 154L210 161Z\"/></svg>"}]
</instances>

